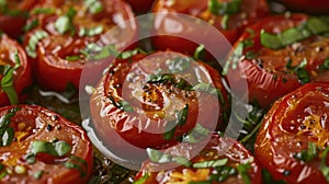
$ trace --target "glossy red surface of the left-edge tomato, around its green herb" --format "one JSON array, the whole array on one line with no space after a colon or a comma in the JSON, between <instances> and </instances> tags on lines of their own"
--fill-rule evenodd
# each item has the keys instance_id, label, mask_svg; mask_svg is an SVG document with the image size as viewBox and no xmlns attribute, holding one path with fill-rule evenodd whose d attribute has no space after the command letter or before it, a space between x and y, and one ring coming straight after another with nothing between
<instances>
[{"instance_id":1,"label":"glossy red surface of the left-edge tomato, around its green herb","mask_svg":"<svg viewBox=\"0 0 329 184\"><path fill-rule=\"evenodd\" d=\"M21 96L22 91L32 84L32 73L31 65L27 61L26 54L24 49L13 39L9 38L7 35L0 37L0 81L3 78L3 69L5 66L15 66L15 54L19 56L20 67L13 72L13 87ZM0 106L9 105L10 101L8 94L3 91L0 84Z\"/></svg>"}]
</instances>

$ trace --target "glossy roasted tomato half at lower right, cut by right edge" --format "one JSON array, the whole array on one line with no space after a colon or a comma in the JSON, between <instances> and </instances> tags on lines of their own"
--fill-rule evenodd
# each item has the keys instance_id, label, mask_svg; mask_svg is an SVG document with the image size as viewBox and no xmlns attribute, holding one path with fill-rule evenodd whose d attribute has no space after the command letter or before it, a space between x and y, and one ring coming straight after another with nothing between
<instances>
[{"instance_id":1,"label":"glossy roasted tomato half at lower right, cut by right edge","mask_svg":"<svg viewBox=\"0 0 329 184\"><path fill-rule=\"evenodd\" d=\"M329 85L310 83L274 103L257 136L254 152L260 165L287 183L326 183L320 171L321 151L328 147ZM309 161L297 153L318 147ZM328 157L326 164L328 164Z\"/></svg>"}]
</instances>

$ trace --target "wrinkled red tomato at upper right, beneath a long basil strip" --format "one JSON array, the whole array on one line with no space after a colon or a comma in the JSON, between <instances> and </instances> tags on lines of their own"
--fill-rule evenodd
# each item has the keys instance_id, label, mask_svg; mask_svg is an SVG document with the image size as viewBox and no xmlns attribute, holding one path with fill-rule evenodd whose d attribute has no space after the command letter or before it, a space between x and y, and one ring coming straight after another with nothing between
<instances>
[{"instance_id":1,"label":"wrinkled red tomato at upper right, beneath a long basil strip","mask_svg":"<svg viewBox=\"0 0 329 184\"><path fill-rule=\"evenodd\" d=\"M309 18L303 14L276 15L248 27L235 44L236 50L242 44L242 57L234 61L236 68L232 64L228 64L228 78L231 79L230 84L237 93L246 94L245 89L239 89L239 85L247 80L249 101L257 100L262 107L268 107L280 96L325 72L319 66L329 57L327 37L313 35L279 49L268 48L261 44L262 30L265 33L280 34L300 26L308 20ZM305 61L307 64L304 67L297 67ZM303 71L298 69L306 72L307 79L300 76Z\"/></svg>"}]
</instances>

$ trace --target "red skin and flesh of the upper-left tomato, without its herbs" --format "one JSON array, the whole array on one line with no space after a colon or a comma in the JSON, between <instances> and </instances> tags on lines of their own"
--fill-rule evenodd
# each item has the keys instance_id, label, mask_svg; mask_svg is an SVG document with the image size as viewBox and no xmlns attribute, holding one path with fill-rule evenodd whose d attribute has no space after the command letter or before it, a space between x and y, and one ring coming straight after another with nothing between
<instances>
[{"instance_id":1,"label":"red skin and flesh of the upper-left tomato, without its herbs","mask_svg":"<svg viewBox=\"0 0 329 184\"><path fill-rule=\"evenodd\" d=\"M24 45L29 46L29 41L37 31L45 31L48 36L38 41L36 46L36 58L30 58L33 62L34 73L37 82L43 89L64 91L68 83L72 83L76 88L79 88L80 77L84 66L90 67L90 70L94 70L93 76L90 76L90 84L93 80L99 79L99 73L104 69L103 62L94 61L89 62L87 56L81 54L81 50L86 49L89 44L98 44L100 46L106 46L111 44L117 44L117 49L123 49L129 46L137 35L136 22L133 20L134 13L131 7L122 0L101 1L103 3L103 11L100 13L84 12L82 1L79 4L75 4L72 1L41 1L35 9L42 8L56 8L58 12L65 14L69 7L75 4L77 15L73 19L73 26L76 34L72 36L70 33L61 35L55 28L55 21L63 14L38 14L32 16L29 22L38 20L39 25L30 31L26 34ZM115 4L115 5L114 5ZM120 21L116 16L121 16L123 20L131 20L129 25L126 25L126 30L122 28L118 35L114 32L106 34L112 27L116 26ZM79 36L78 33L81 28L92 28L95 26L102 26L102 33L93 36ZM122 35L121 35L122 34ZM125 35L124 35L125 34ZM134 46L132 46L134 47ZM69 60L67 57L78 56L79 59ZM110 59L109 59L110 60ZM56 82L54 82L56 81Z\"/></svg>"}]
</instances>

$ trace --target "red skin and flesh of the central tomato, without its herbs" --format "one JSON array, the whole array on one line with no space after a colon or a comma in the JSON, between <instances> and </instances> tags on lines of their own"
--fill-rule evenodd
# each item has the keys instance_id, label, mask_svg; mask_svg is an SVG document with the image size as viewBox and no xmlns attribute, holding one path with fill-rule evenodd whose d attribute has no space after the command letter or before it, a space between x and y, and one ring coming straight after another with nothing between
<instances>
[{"instance_id":1,"label":"red skin and flesh of the central tomato, without its herbs","mask_svg":"<svg viewBox=\"0 0 329 184\"><path fill-rule=\"evenodd\" d=\"M174 56L186 57L173 51L159 51L150 56L136 55L131 59L115 60L107 73L99 82L90 100L91 115L101 140L106 142L110 148L117 148L123 151L123 154L127 153L123 148L124 143L120 139L124 139L128 143L143 149L175 143L177 138L193 129L196 119L201 124L205 124L204 126L206 127L216 128L217 125L214 125L215 119L213 118L216 118L216 123L219 119L218 126L224 125L223 114L226 108L223 107L224 105L218 106L216 103L218 102L217 96L205 93L201 93L197 96L193 91L184 91L172 84L150 84L145 81L145 77L159 68L162 69L166 60L172 59ZM144 58L147 59L144 60ZM192 64L194 65L194 62ZM200 68L200 76L209 76L214 87L222 91L226 102L225 105L228 105L228 95L224 90L219 73L205 64L195 64ZM190 70L192 71L192 69L189 69L186 72ZM132 78L129 78L131 76ZM194 81L194 76L191 76L193 77L193 80L191 80ZM136 79L137 81L129 81L131 79ZM140 89L141 84L143 89ZM143 94L146 97L139 99L134 96L137 94ZM134 112L118 110L113 104L113 100L111 101L111 97L116 102L121 99L127 101L135 107ZM149 102L148 97L156 99ZM171 105L168 106L168 104ZM186 104L189 104L186 122L183 126L175 128L171 139L166 140L164 129L166 125L169 125L168 118L171 119L172 112L181 111ZM158 107L154 108L152 106ZM198 113L203 114L204 117L198 117ZM216 115L219 116L218 119Z\"/></svg>"}]
</instances>

